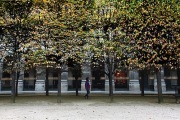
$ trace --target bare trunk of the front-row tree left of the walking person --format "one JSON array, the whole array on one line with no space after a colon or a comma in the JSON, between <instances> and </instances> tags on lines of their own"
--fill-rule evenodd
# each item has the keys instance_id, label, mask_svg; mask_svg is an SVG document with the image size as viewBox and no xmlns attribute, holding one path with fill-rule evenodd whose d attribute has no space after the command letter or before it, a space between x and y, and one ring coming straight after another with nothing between
<instances>
[{"instance_id":1,"label":"bare trunk of the front-row tree left of the walking person","mask_svg":"<svg viewBox=\"0 0 180 120\"><path fill-rule=\"evenodd\" d=\"M58 68L58 95L57 102L61 103L61 69Z\"/></svg>"}]
</instances>

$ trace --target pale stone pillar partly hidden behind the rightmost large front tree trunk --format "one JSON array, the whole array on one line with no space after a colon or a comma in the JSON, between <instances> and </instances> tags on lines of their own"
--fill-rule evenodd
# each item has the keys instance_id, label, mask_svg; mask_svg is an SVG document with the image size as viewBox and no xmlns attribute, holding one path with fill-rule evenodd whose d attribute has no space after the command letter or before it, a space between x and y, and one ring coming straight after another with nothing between
<instances>
[{"instance_id":1,"label":"pale stone pillar partly hidden behind the rightmost large front tree trunk","mask_svg":"<svg viewBox=\"0 0 180 120\"><path fill-rule=\"evenodd\" d=\"M162 86L162 92L166 91L166 84L164 81L164 68L161 69L161 86ZM157 76L156 73L154 74L154 91L157 91Z\"/></svg>"}]
</instances>

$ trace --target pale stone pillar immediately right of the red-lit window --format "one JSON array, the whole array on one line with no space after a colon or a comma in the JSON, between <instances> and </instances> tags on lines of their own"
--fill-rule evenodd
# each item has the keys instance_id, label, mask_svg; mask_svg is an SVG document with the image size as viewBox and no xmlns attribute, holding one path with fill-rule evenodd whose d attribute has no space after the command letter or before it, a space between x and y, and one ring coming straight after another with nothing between
<instances>
[{"instance_id":1,"label":"pale stone pillar immediately right of the red-lit window","mask_svg":"<svg viewBox=\"0 0 180 120\"><path fill-rule=\"evenodd\" d=\"M129 91L140 91L139 72L137 70L129 71Z\"/></svg>"}]
</instances>

